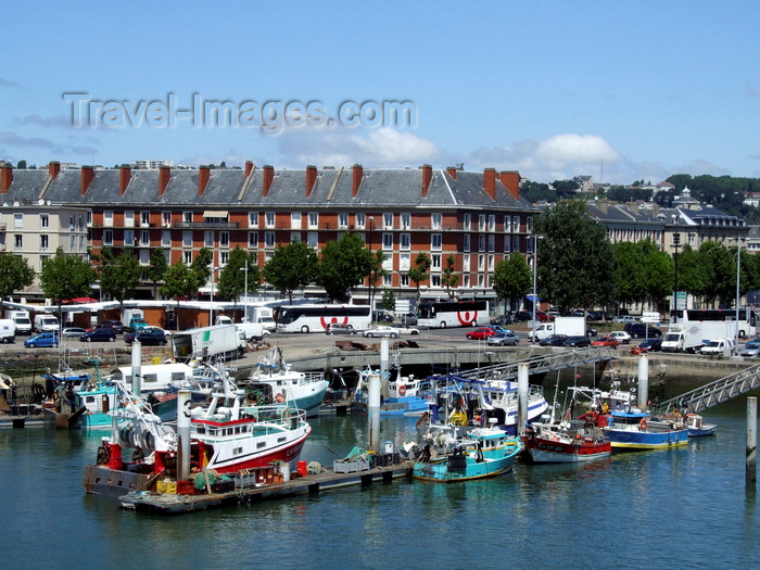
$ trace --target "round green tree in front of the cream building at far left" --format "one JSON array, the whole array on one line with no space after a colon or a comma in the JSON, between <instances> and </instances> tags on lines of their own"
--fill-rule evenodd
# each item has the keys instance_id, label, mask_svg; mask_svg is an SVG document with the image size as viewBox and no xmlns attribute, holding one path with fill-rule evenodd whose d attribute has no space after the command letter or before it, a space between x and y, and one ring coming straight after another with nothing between
<instances>
[{"instance_id":1,"label":"round green tree in front of the cream building at far left","mask_svg":"<svg viewBox=\"0 0 760 570\"><path fill-rule=\"evenodd\" d=\"M55 250L55 255L42 263L39 276L40 288L48 299L58 305L59 320L63 301L77 296L90 296L92 283L98 276L90 263L76 254L63 253L63 248Z\"/></svg>"}]
</instances>

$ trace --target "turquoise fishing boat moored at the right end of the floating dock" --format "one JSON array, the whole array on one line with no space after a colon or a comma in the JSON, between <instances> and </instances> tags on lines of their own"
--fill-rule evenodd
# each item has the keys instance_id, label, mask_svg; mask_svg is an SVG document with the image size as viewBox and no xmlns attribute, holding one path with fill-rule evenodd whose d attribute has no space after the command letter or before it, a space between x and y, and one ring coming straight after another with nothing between
<instances>
[{"instance_id":1,"label":"turquoise fishing boat moored at the right end of the floating dock","mask_svg":"<svg viewBox=\"0 0 760 570\"><path fill-rule=\"evenodd\" d=\"M472 481L511 470L522 449L518 438L494 426L460 431L456 426L429 429L414 464L415 479L436 483Z\"/></svg>"}]
</instances>

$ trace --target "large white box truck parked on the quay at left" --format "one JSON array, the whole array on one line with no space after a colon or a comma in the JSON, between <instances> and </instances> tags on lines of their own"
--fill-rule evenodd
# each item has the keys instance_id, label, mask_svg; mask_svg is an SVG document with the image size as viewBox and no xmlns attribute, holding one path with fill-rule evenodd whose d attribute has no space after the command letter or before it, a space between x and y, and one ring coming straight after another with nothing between
<instances>
[{"instance_id":1,"label":"large white box truck parked on the quay at left","mask_svg":"<svg viewBox=\"0 0 760 570\"><path fill-rule=\"evenodd\" d=\"M172 334L172 351L178 360L237 358L248 342L235 325L212 325Z\"/></svg>"}]
</instances>

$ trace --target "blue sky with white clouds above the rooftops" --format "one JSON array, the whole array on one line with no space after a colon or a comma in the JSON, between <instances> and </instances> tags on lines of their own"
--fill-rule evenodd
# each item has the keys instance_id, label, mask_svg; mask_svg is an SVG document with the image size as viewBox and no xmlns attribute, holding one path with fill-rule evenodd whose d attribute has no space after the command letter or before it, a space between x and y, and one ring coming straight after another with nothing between
<instances>
[{"instance_id":1,"label":"blue sky with white clouds above the rooftops","mask_svg":"<svg viewBox=\"0 0 760 570\"><path fill-rule=\"evenodd\" d=\"M758 16L701 0L25 2L2 16L0 159L760 177Z\"/></svg>"}]
</instances>

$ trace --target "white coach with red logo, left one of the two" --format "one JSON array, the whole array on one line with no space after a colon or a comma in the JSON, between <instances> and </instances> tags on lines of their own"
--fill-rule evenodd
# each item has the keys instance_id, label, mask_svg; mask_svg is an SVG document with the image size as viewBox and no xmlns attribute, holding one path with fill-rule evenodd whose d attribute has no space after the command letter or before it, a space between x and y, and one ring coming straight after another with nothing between
<instances>
[{"instance_id":1,"label":"white coach with red logo, left one of the two","mask_svg":"<svg viewBox=\"0 0 760 570\"><path fill-rule=\"evenodd\" d=\"M325 332L330 324L354 329L368 329L371 322L369 305L282 305L275 320L280 332Z\"/></svg>"}]
</instances>

